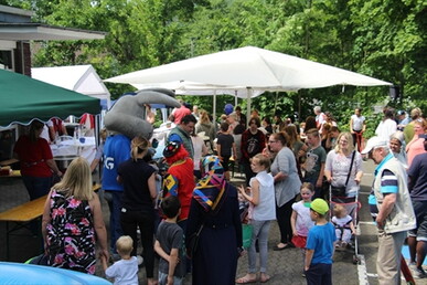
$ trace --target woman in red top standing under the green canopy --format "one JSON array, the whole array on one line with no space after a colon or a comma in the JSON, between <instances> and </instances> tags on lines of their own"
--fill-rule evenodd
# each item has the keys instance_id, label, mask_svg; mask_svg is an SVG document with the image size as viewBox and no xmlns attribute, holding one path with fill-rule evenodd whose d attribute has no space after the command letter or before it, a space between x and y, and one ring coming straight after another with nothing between
<instances>
[{"instance_id":1,"label":"woman in red top standing under the green canopy","mask_svg":"<svg viewBox=\"0 0 427 285\"><path fill-rule=\"evenodd\" d=\"M49 193L52 186L52 173L62 176L53 160L47 140L40 137L43 127L43 123L33 120L30 134L21 136L13 149L21 163L22 180L30 194L30 200Z\"/></svg>"}]
</instances>

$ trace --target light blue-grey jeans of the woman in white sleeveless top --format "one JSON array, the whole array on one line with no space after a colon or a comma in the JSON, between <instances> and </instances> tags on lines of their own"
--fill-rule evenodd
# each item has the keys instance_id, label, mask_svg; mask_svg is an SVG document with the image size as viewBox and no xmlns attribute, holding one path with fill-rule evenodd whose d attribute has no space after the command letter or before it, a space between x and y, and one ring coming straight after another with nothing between
<instances>
[{"instance_id":1,"label":"light blue-grey jeans of the woman in white sleeveless top","mask_svg":"<svg viewBox=\"0 0 427 285\"><path fill-rule=\"evenodd\" d=\"M258 240L259 247L259 272L267 272L268 263L268 232L271 221L254 221L250 220L253 226L252 243L249 247L249 273L256 273L256 250L255 241Z\"/></svg>"}]
</instances>

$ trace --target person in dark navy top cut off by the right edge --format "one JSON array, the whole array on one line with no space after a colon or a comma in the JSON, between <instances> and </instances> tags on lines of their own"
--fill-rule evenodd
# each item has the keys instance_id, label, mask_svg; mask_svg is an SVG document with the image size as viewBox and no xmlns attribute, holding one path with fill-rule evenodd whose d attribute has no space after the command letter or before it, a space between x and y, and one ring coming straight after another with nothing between
<instances>
[{"instance_id":1,"label":"person in dark navy top cut off by the right edge","mask_svg":"<svg viewBox=\"0 0 427 285\"><path fill-rule=\"evenodd\" d=\"M427 135L424 138L424 149L427 151ZM427 152L417 155L408 170L409 193L413 201L417 228L409 231L408 245L410 254L409 268L415 278L425 278L423 263L427 251Z\"/></svg>"}]
</instances>

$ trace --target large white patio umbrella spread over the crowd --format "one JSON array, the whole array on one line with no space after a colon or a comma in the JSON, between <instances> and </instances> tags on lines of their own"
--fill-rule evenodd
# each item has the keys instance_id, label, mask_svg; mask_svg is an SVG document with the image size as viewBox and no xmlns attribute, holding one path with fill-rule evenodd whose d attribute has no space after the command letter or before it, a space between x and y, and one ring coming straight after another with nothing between
<instances>
[{"instance_id":1,"label":"large white patio umbrella spread over the crowd","mask_svg":"<svg viewBox=\"0 0 427 285\"><path fill-rule=\"evenodd\" d=\"M108 78L106 82L128 84L193 82L216 86L242 86L247 88L247 98L254 96L254 88L298 91L332 85L392 85L359 73L254 46L136 71Z\"/></svg>"}]
</instances>

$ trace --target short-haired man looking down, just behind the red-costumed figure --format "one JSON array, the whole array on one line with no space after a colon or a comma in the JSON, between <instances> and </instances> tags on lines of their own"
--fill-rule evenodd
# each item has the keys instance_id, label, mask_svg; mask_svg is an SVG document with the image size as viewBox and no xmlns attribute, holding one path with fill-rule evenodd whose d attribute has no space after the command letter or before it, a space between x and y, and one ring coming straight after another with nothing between
<instances>
[{"instance_id":1,"label":"short-haired man looking down, just behind the red-costumed figure","mask_svg":"<svg viewBox=\"0 0 427 285\"><path fill-rule=\"evenodd\" d=\"M180 141L184 145L191 159L194 158L193 142L191 141L191 134L194 131L194 126L198 119L193 115L185 115L180 124L169 133L168 141Z\"/></svg>"}]
</instances>

